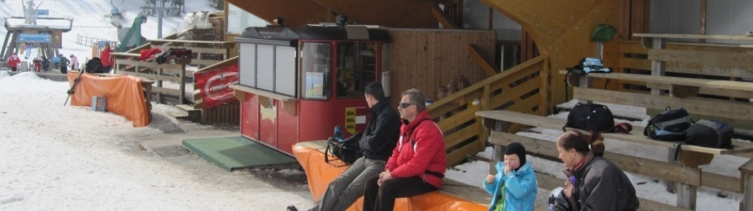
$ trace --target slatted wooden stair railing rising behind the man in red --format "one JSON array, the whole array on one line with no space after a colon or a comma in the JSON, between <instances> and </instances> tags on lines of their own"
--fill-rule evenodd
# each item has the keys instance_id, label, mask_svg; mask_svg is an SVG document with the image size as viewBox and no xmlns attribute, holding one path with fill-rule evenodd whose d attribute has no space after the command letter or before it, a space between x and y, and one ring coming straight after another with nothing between
<instances>
[{"instance_id":1,"label":"slatted wooden stair railing rising behind the man in red","mask_svg":"<svg viewBox=\"0 0 753 211\"><path fill-rule=\"evenodd\" d=\"M459 164L468 154L486 147L489 135L475 112L505 109L547 114L548 63L549 57L541 55L428 106L429 115L437 118L437 125L444 133L447 166Z\"/></svg>"}]
</instances>

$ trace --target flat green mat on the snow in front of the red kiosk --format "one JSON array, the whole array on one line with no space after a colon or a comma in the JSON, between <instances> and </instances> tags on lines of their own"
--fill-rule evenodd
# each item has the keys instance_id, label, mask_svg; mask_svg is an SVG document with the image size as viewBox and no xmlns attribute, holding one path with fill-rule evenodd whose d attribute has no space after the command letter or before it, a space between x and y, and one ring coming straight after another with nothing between
<instances>
[{"instance_id":1,"label":"flat green mat on the snow in front of the red kiosk","mask_svg":"<svg viewBox=\"0 0 753 211\"><path fill-rule=\"evenodd\" d=\"M184 139L183 146L227 171L297 162L288 154L243 136Z\"/></svg>"}]
</instances>

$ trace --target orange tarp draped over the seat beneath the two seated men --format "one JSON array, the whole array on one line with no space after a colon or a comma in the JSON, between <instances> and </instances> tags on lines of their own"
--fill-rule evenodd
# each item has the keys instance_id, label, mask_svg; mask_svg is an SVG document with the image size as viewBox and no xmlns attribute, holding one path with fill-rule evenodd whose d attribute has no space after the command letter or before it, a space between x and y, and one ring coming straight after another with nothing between
<instances>
[{"instance_id":1,"label":"orange tarp draped over the seat beneath the two seated men","mask_svg":"<svg viewBox=\"0 0 753 211\"><path fill-rule=\"evenodd\" d=\"M325 154L322 153L316 144L298 143L293 146L295 158L306 171L306 178L309 181L309 188L314 200L322 197L327 189L327 185L333 179L343 173L347 167L343 166L341 161L330 161L325 163ZM336 159L336 157L333 157ZM361 211L363 206L363 197L359 198L347 210ZM421 194L410 198L398 198L395 200L394 210L427 210L427 211L486 211L489 205L480 204L473 201L465 200L459 197L453 197L442 191L434 191L428 194Z\"/></svg>"}]
</instances>

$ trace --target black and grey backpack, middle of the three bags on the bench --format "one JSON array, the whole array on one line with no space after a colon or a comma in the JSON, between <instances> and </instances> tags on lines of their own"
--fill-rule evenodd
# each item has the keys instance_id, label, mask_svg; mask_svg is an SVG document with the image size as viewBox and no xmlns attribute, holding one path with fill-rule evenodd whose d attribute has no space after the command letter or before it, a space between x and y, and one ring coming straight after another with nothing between
<instances>
[{"instance_id":1,"label":"black and grey backpack, middle of the three bags on the bench","mask_svg":"<svg viewBox=\"0 0 753 211\"><path fill-rule=\"evenodd\" d=\"M643 135L663 141L682 141L691 124L693 124L691 115L685 109L672 110L667 107L666 111L648 121L648 125L643 129Z\"/></svg>"}]
</instances>

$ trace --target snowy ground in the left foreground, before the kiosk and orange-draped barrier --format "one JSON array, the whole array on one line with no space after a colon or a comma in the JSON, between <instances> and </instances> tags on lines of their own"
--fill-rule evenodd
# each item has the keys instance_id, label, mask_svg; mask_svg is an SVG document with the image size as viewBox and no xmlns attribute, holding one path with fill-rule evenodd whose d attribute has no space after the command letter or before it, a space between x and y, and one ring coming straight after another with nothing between
<instances>
[{"instance_id":1,"label":"snowy ground in the left foreground, before the kiosk and orange-draped barrier","mask_svg":"<svg viewBox=\"0 0 753 211\"><path fill-rule=\"evenodd\" d=\"M175 130L211 130L154 105L134 128L112 113L62 106L66 82L0 71L0 210L273 210L311 206L303 173L228 173L194 154L160 157L137 140ZM175 129L177 127L178 129ZM279 178L296 181L277 181Z\"/></svg>"}]
</instances>

